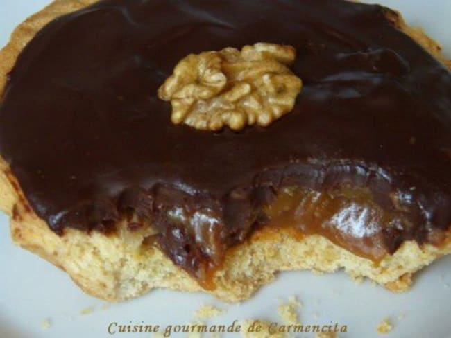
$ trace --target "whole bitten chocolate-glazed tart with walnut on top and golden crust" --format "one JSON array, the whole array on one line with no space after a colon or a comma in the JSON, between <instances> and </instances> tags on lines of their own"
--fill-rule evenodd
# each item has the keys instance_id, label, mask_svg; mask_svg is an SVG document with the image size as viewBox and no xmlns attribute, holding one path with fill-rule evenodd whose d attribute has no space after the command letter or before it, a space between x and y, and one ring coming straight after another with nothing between
<instances>
[{"instance_id":1,"label":"whole bitten chocolate-glazed tart with walnut on top and golden crust","mask_svg":"<svg viewBox=\"0 0 451 338\"><path fill-rule=\"evenodd\" d=\"M389 8L56 0L0 60L12 239L89 294L403 291L451 251L449 62Z\"/></svg>"}]
</instances>

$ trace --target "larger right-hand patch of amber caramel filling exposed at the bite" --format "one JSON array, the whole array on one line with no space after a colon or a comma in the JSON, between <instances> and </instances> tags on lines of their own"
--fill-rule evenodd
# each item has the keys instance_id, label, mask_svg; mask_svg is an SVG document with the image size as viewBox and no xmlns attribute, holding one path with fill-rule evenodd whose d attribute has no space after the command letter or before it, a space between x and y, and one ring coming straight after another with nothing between
<instances>
[{"instance_id":1,"label":"larger right-hand patch of amber caramel filling exposed at the bite","mask_svg":"<svg viewBox=\"0 0 451 338\"><path fill-rule=\"evenodd\" d=\"M267 226L291 227L300 238L323 235L357 256L378 262L387 251L382 229L402 224L402 219L384 211L365 189L341 189L319 193L286 188L267 210Z\"/></svg>"}]
</instances>

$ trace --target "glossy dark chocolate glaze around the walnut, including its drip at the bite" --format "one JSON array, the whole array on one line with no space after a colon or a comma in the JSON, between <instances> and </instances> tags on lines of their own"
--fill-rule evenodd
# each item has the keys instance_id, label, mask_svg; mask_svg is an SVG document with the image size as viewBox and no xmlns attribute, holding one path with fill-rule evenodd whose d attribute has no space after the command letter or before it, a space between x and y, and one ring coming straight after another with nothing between
<instances>
[{"instance_id":1,"label":"glossy dark chocolate glaze around the walnut, including its drip at the bite","mask_svg":"<svg viewBox=\"0 0 451 338\"><path fill-rule=\"evenodd\" d=\"M131 209L197 276L283 186L364 188L409 224L380 224L387 251L425 242L451 224L451 75L388 17L338 0L100 1L24 48L0 154L53 231L107 231ZM256 42L296 48L293 112L241 132L171 123L156 94L182 57Z\"/></svg>"}]
</instances>

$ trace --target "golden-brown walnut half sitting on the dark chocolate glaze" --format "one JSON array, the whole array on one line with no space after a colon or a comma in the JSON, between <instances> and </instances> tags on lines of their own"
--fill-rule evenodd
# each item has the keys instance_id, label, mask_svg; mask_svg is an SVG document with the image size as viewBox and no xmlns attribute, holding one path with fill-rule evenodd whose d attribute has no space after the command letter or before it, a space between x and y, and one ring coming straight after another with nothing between
<instances>
[{"instance_id":1,"label":"golden-brown walnut half sitting on the dark chocolate glaze","mask_svg":"<svg viewBox=\"0 0 451 338\"><path fill-rule=\"evenodd\" d=\"M291 112L302 82L288 68L292 46L258 43L188 55L158 89L173 123L199 130L267 126Z\"/></svg>"}]
</instances>

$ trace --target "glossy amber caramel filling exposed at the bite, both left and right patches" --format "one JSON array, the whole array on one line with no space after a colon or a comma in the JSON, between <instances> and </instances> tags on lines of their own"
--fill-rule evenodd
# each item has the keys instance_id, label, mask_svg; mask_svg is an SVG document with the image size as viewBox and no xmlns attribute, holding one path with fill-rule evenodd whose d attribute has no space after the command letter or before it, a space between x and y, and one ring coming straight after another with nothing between
<instances>
[{"instance_id":1,"label":"glossy amber caramel filling exposed at the bite, both left and right patches","mask_svg":"<svg viewBox=\"0 0 451 338\"><path fill-rule=\"evenodd\" d=\"M342 187L323 192L299 187L283 188L271 203L256 213L259 214L257 219L262 220L250 221L248 226L244 226L250 231L255 226L262 226L271 230L264 231L266 236L271 236L278 229L284 229L297 240L307 235L322 235L374 263L379 263L391 253L384 242L385 236L393 240L394 230L403 231L409 226L402 211L394 206L393 211L381 208L366 188ZM196 212L189 215L183 208L174 208L167 215L171 224L183 226L187 242L179 255L174 256L172 252L173 260L182 262L185 253L196 256L197 265L190 272L203 287L211 290L214 288L214 272L221 269L227 252L236 246L221 241L221 224L212 214ZM194 250L198 252L194 253Z\"/></svg>"}]
</instances>

